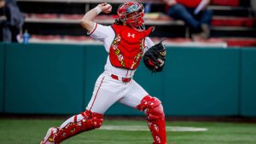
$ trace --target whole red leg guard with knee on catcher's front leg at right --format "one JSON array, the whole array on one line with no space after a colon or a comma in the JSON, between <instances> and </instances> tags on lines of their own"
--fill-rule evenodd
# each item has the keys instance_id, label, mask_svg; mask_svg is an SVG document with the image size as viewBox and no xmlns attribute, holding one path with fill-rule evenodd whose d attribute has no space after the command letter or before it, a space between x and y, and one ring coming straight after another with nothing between
<instances>
[{"instance_id":1,"label":"whole red leg guard with knee on catcher's front leg at right","mask_svg":"<svg viewBox=\"0 0 256 144\"><path fill-rule=\"evenodd\" d=\"M160 100L147 95L137 109L147 115L148 128L154 138L153 144L166 144L166 118Z\"/></svg>"}]
</instances>

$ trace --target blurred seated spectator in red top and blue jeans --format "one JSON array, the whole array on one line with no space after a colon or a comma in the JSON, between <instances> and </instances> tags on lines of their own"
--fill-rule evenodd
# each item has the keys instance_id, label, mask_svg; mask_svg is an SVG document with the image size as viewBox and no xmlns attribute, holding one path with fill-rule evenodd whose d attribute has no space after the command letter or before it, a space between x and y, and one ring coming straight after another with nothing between
<instances>
[{"instance_id":1,"label":"blurred seated spectator in red top and blue jeans","mask_svg":"<svg viewBox=\"0 0 256 144\"><path fill-rule=\"evenodd\" d=\"M193 40L210 36L212 11L207 9L211 0L164 0L166 12L175 20L183 20L189 26Z\"/></svg>"}]
</instances>

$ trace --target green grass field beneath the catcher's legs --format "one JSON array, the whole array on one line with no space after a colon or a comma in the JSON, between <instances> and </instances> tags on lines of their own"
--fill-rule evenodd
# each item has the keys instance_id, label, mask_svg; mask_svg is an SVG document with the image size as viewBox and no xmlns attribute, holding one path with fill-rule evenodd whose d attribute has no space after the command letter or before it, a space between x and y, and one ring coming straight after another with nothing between
<instances>
[{"instance_id":1,"label":"green grass field beneath the catcher's legs","mask_svg":"<svg viewBox=\"0 0 256 144\"><path fill-rule=\"evenodd\" d=\"M38 144L50 126L63 120L0 119L0 144ZM135 120L105 120L103 125L144 125ZM167 122L169 126L207 128L203 132L167 132L172 144L255 144L256 124ZM151 144L148 131L91 130L62 142L63 144ZM61 143L61 144L62 144Z\"/></svg>"}]
</instances>

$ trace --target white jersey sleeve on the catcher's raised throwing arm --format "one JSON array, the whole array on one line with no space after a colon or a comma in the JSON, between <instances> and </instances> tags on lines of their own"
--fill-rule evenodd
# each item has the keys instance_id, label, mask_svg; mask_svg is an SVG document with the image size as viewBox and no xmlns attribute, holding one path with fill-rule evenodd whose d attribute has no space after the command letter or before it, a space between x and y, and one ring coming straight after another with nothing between
<instances>
[{"instance_id":1,"label":"white jersey sleeve on the catcher's raised throwing arm","mask_svg":"<svg viewBox=\"0 0 256 144\"><path fill-rule=\"evenodd\" d=\"M98 41L104 42L109 36L110 31L113 31L111 26L102 26L101 24L95 23L93 30L87 34Z\"/></svg>"}]
</instances>

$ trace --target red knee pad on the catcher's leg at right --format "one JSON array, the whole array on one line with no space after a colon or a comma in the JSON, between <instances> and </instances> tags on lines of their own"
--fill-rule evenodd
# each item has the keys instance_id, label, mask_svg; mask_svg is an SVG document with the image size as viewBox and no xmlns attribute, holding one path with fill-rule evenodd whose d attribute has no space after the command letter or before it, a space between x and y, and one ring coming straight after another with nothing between
<instances>
[{"instance_id":1,"label":"red knee pad on the catcher's leg at right","mask_svg":"<svg viewBox=\"0 0 256 144\"><path fill-rule=\"evenodd\" d=\"M165 117L164 108L161 101L150 95L143 98L141 103L137 106L137 109L145 112L148 119L159 119Z\"/></svg>"}]
</instances>

